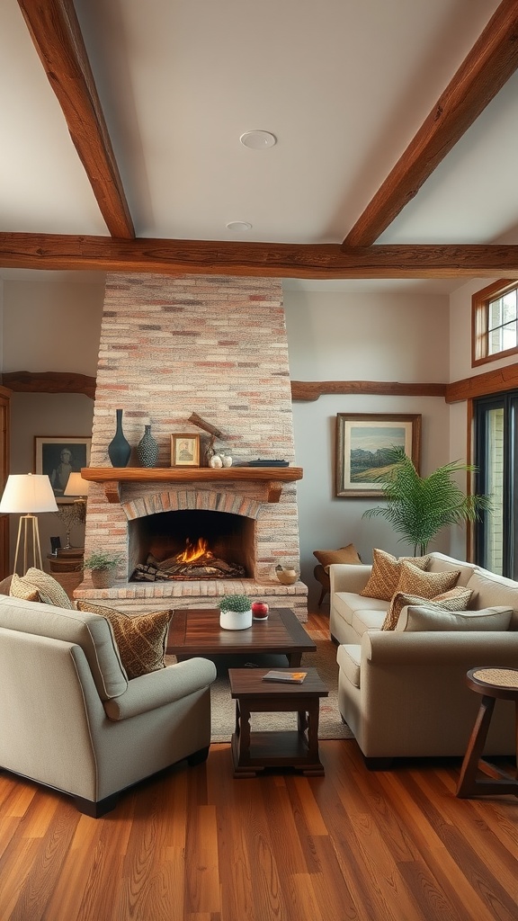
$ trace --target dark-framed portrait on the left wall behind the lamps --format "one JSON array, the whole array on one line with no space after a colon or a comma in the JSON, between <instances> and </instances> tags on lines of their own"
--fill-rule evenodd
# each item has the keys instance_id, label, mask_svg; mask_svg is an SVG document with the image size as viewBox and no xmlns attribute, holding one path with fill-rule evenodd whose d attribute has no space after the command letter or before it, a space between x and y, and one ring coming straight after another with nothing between
<instances>
[{"instance_id":1,"label":"dark-framed portrait on the left wall behind the lamps","mask_svg":"<svg viewBox=\"0 0 518 921\"><path fill-rule=\"evenodd\" d=\"M64 495L70 473L81 472L90 462L91 437L37 435L34 438L34 472L46 473L56 501L69 503L73 495Z\"/></svg>"}]
</instances>

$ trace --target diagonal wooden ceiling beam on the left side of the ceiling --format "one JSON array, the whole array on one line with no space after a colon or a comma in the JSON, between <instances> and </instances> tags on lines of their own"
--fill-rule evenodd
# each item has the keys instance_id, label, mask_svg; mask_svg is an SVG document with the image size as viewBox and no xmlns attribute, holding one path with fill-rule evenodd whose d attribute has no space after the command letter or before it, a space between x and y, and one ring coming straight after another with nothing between
<instances>
[{"instance_id":1,"label":"diagonal wooden ceiling beam on the left side of the ceiling","mask_svg":"<svg viewBox=\"0 0 518 921\"><path fill-rule=\"evenodd\" d=\"M72 0L18 0L112 237L135 229Z\"/></svg>"}]
</instances>

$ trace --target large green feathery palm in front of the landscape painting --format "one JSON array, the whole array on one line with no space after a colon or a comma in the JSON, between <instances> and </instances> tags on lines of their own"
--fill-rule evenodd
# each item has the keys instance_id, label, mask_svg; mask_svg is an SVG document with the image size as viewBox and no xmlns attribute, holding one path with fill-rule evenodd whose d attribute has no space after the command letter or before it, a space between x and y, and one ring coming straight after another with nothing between
<instances>
[{"instance_id":1,"label":"large green feathery palm in front of the landscape painting","mask_svg":"<svg viewBox=\"0 0 518 921\"><path fill-rule=\"evenodd\" d=\"M362 517L390 521L400 540L413 544L415 555L426 554L442 528L475 521L482 511L490 511L489 495L465 495L453 479L455 473L474 472L471 464L453 461L422 477L405 449L391 448L386 455L390 467L378 478L386 504L369 508Z\"/></svg>"}]
</instances>

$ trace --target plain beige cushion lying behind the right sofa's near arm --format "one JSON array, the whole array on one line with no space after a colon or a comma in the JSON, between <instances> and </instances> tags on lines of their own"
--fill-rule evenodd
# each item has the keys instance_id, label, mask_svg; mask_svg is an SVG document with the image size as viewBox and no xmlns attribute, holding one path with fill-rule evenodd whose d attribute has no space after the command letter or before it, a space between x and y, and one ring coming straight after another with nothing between
<instances>
[{"instance_id":1,"label":"plain beige cushion lying behind the right sofa's near arm","mask_svg":"<svg viewBox=\"0 0 518 921\"><path fill-rule=\"evenodd\" d=\"M512 610L505 607L484 608L482 611L444 611L439 606L409 605L401 612L396 631L417 633L430 630L508 630Z\"/></svg>"}]
</instances>

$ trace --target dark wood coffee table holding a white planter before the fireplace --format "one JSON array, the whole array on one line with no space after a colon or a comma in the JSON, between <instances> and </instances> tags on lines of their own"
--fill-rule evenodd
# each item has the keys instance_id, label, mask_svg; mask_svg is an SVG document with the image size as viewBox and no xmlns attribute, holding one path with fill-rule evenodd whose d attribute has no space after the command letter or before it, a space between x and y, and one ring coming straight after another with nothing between
<instances>
[{"instance_id":1,"label":"dark wood coffee table holding a white planter before the fireplace","mask_svg":"<svg viewBox=\"0 0 518 921\"><path fill-rule=\"evenodd\" d=\"M265 621L253 621L247 630L223 630L217 608L181 608L173 612L166 652L179 660L279 653L288 656L291 669L297 669L302 653L315 650L311 636L288 608L270 610Z\"/></svg>"}]
</instances>

